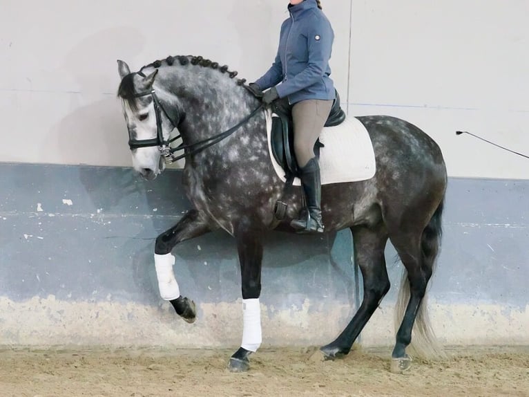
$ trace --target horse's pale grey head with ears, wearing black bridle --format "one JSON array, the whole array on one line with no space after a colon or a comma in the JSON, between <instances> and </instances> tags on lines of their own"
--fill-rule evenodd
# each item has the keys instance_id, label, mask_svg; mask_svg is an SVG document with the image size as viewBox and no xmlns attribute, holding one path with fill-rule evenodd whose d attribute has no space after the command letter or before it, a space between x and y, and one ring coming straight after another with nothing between
<instances>
[{"instance_id":1,"label":"horse's pale grey head with ears, wearing black bridle","mask_svg":"<svg viewBox=\"0 0 529 397\"><path fill-rule=\"evenodd\" d=\"M125 62L117 61L117 64L122 79L117 95L122 98L133 167L144 178L152 180L165 168L161 150L168 145L169 133L174 128L155 90L157 69L144 75L131 73Z\"/></svg>"}]
</instances>

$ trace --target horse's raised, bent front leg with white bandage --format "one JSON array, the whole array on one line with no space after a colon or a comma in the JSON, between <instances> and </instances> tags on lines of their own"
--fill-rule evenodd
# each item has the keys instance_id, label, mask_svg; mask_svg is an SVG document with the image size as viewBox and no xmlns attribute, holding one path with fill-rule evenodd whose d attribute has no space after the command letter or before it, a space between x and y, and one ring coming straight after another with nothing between
<instances>
[{"instance_id":1,"label":"horse's raised, bent front leg with white bandage","mask_svg":"<svg viewBox=\"0 0 529 397\"><path fill-rule=\"evenodd\" d=\"M180 295L180 287L173 272L175 257L171 255L171 250L177 243L193 239L207 232L211 232L211 228L204 221L200 212L189 210L176 225L160 234L156 239L154 263L160 296L171 302L176 313L186 322L194 322L197 311L195 302Z\"/></svg>"}]
</instances>

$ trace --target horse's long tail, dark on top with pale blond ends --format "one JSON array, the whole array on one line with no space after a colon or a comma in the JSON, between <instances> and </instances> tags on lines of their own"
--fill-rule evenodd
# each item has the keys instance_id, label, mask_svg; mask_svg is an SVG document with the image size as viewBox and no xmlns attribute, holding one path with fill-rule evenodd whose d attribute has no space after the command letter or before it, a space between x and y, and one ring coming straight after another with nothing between
<instances>
[{"instance_id":1,"label":"horse's long tail, dark on top with pale blond ends","mask_svg":"<svg viewBox=\"0 0 529 397\"><path fill-rule=\"evenodd\" d=\"M435 210L432 219L427 224L421 236L421 255L422 267L432 269L432 275L435 271L435 259L439 252L441 245L441 218L443 216L443 200ZM401 322L406 311L408 301L410 300L410 281L407 279L407 272L403 270L401 279L401 288L398 293L398 298L395 306L395 329L401 325ZM415 318L415 324L412 333L412 343L410 344L410 352L414 356L421 358L444 358L445 353L439 341L435 337L432 324L430 324L430 317L427 311L427 291L423 297L419 311Z\"/></svg>"}]
</instances>

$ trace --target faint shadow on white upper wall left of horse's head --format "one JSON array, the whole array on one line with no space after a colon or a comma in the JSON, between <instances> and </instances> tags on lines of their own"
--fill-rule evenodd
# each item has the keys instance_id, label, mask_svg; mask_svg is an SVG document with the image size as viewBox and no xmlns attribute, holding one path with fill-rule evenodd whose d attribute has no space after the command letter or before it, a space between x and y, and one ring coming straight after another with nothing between
<instances>
[{"instance_id":1,"label":"faint shadow on white upper wall left of horse's head","mask_svg":"<svg viewBox=\"0 0 529 397\"><path fill-rule=\"evenodd\" d=\"M97 30L64 53L57 72L69 75L73 80L71 89L77 93L68 93L69 107L75 110L52 127L43 141L44 149L63 155L55 160L77 164L79 158L88 158L90 163L101 164L111 159L116 164L130 158L126 125L116 98L116 59L135 57L145 43L146 38L137 28L118 26ZM83 102L89 104L83 106Z\"/></svg>"}]
</instances>

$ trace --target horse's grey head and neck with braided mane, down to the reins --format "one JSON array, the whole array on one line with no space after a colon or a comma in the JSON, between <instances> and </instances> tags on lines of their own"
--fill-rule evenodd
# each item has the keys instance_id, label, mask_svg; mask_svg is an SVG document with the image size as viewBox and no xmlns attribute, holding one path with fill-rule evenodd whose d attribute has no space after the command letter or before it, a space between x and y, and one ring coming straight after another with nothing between
<instances>
[{"instance_id":1,"label":"horse's grey head and neck with braided mane, down to the reins","mask_svg":"<svg viewBox=\"0 0 529 397\"><path fill-rule=\"evenodd\" d=\"M117 64L121 77L117 95L122 99L133 166L147 179L160 174L165 161L186 158L188 165L188 158L200 156L204 149L210 154L218 151L222 147L218 143L241 127L249 128L249 119L261 109L260 101L242 88L246 80L235 80L237 72L203 57L167 57L137 73L131 73L125 62ZM173 129L178 133L171 138ZM179 138L181 145L169 147Z\"/></svg>"}]
</instances>

